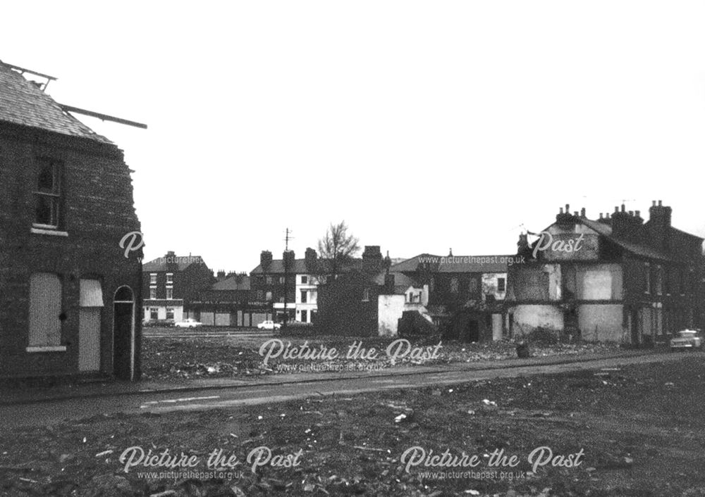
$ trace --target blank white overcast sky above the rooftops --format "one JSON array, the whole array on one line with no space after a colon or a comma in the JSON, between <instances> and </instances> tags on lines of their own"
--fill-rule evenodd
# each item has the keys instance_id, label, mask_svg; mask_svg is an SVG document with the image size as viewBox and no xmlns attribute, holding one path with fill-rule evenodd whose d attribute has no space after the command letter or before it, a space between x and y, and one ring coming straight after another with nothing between
<instances>
[{"instance_id":1,"label":"blank white overcast sky above the rooftops","mask_svg":"<svg viewBox=\"0 0 705 497\"><path fill-rule=\"evenodd\" d=\"M249 272L330 222L513 253L558 207L705 236L702 1L11 2L0 60L125 151L155 258ZM0 89L1 91L1 89Z\"/></svg>"}]
</instances>

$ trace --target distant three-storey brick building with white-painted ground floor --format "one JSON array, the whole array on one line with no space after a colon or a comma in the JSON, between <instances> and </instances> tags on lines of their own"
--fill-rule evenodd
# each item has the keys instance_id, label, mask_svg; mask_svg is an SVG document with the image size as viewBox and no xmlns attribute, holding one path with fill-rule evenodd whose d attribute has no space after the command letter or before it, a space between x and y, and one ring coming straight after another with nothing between
<instances>
[{"instance_id":1,"label":"distant three-storey brick building with white-painted ground floor","mask_svg":"<svg viewBox=\"0 0 705 497\"><path fill-rule=\"evenodd\" d=\"M200 256L177 256L173 251L145 263L142 272L145 323L182 321L185 302L196 300L214 282L213 272Z\"/></svg>"}]
</instances>

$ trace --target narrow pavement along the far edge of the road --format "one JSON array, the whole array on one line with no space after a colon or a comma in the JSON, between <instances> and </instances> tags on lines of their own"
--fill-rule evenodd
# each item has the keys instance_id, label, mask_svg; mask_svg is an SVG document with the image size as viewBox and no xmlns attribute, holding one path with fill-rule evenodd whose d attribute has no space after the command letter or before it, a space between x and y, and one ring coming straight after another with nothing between
<instances>
[{"instance_id":1,"label":"narrow pavement along the far edge of the road","mask_svg":"<svg viewBox=\"0 0 705 497\"><path fill-rule=\"evenodd\" d=\"M659 349L639 349L615 353L582 354L580 356L544 356L527 359L485 360L472 363L450 363L429 366L395 366L384 370L360 372L307 372L279 373L237 378L195 378L174 381L142 380L140 382L82 382L58 384L55 386L2 386L0 385L0 405L20 405L43 403L78 398L99 398L130 396L136 394L185 393L214 389L243 388L250 386L276 386L310 382L332 382L345 379L404 377L410 375L434 374L443 372L484 371L541 365L562 365L586 363L612 358L633 358L662 353Z\"/></svg>"}]
</instances>

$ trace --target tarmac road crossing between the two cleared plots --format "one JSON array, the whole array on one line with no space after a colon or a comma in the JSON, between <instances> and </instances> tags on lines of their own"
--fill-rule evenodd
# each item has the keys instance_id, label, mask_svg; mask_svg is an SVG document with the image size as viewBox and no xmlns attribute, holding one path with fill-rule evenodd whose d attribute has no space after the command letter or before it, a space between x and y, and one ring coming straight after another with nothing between
<instances>
[{"instance_id":1,"label":"tarmac road crossing between the two cleared plots","mask_svg":"<svg viewBox=\"0 0 705 497\"><path fill-rule=\"evenodd\" d=\"M694 352L705 359L705 353ZM90 398L65 398L35 401L14 405L0 405L0 432L22 426L42 426L61 420L80 420L94 415L125 413L169 413L176 410L208 410L237 408L291 401L311 396L351 396L368 391L388 389L413 389L422 386L450 386L484 379L546 375L576 370L599 370L603 367L622 367L632 364L670 362L680 360L678 353L650 353L644 356L613 357L582 362L527 365L520 367L493 367L480 370L448 370L443 372L411 372L395 375L374 375L331 379L324 377L305 382L280 384L236 384L223 388L208 387L174 391L136 391L128 394ZM292 375L293 377L293 375ZM295 379L294 377L292 379Z\"/></svg>"}]
</instances>

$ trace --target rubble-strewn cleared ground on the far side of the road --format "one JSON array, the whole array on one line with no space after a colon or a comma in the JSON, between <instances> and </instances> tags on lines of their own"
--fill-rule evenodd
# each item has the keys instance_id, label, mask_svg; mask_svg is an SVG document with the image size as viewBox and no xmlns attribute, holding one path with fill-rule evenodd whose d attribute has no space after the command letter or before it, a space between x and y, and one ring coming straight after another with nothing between
<instances>
[{"instance_id":1,"label":"rubble-strewn cleared ground on the far side of the road","mask_svg":"<svg viewBox=\"0 0 705 497\"><path fill-rule=\"evenodd\" d=\"M172 328L173 329L173 328ZM164 330L168 331L169 328ZM355 339L340 336L317 337L276 337L283 341L284 346L291 343L293 347L302 346L305 342L311 349L319 350L320 346L335 347L341 356L333 361L283 360L280 356L263 363L259 348L269 338L243 338L241 336L220 336L214 338L174 337L152 338L147 334L142 344L142 375L145 379L189 379L194 377L256 377L259 375L286 374L288 372L319 372L326 366L358 367L387 369L393 367L385 353L386 348L394 339ZM361 348L369 351L376 348L376 360L345 359L350 346L355 341L362 341ZM412 347L436 346L440 339L418 339L412 341ZM615 344L598 344L580 342L576 344L532 345L532 356L578 356L585 353L606 353L617 351ZM405 349L400 350L404 353ZM432 360L415 360L409 351L407 356L396 360L396 365L441 365L448 363L472 363L479 360L505 360L516 358L516 345L510 342L491 342L484 344L463 344L459 342L443 342L439 349L439 358ZM306 367L313 362L319 365L318 370L298 370L296 367ZM287 369L281 369L286 365Z\"/></svg>"}]
</instances>

